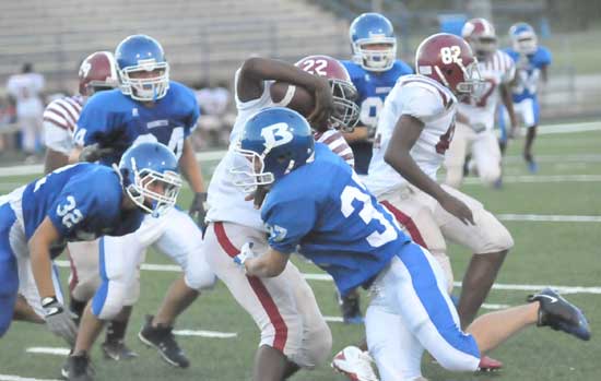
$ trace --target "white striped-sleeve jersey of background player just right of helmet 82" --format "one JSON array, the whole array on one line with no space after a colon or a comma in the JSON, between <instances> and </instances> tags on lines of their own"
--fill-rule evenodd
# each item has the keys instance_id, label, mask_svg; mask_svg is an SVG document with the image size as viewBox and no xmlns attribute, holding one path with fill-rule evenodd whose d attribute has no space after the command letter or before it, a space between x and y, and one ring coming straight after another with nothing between
<instances>
[{"instance_id":1,"label":"white striped-sleeve jersey of background player just right of helmet 82","mask_svg":"<svg viewBox=\"0 0 601 381\"><path fill-rule=\"evenodd\" d=\"M516 74L514 60L505 51L497 50L486 61L478 62L484 88L478 97L467 98L459 104L458 111L470 120L476 131L492 130L495 124L495 111L500 100L499 86L509 83Z\"/></svg>"}]
</instances>

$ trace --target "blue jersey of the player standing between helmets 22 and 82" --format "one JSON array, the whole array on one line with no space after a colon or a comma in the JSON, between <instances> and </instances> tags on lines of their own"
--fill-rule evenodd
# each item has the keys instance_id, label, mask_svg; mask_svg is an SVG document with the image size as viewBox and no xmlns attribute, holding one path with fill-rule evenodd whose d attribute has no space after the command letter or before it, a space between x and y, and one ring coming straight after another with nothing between
<instances>
[{"instance_id":1,"label":"blue jersey of the player standing between helmets 22 and 82","mask_svg":"<svg viewBox=\"0 0 601 381\"><path fill-rule=\"evenodd\" d=\"M354 61L341 62L357 88L358 98L356 103L361 108L358 124L375 128L388 93L390 93L400 76L413 74L413 69L401 60L394 61L392 68L384 72L366 71ZM367 168L372 159L372 142L354 142L350 145L355 155L355 170L360 175L367 175Z\"/></svg>"}]
</instances>

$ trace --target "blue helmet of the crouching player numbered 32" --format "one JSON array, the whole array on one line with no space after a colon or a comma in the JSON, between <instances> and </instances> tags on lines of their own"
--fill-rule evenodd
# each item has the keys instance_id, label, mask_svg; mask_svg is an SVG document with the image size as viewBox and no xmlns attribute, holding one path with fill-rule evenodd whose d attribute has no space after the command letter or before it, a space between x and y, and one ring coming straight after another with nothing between
<instances>
[{"instance_id":1,"label":"blue helmet of the crouching player numbered 32","mask_svg":"<svg viewBox=\"0 0 601 381\"><path fill-rule=\"evenodd\" d=\"M175 205L181 188L177 158L165 145L156 142L129 147L118 167L123 190L143 211L158 217ZM163 192L156 191L160 181Z\"/></svg>"}]
</instances>

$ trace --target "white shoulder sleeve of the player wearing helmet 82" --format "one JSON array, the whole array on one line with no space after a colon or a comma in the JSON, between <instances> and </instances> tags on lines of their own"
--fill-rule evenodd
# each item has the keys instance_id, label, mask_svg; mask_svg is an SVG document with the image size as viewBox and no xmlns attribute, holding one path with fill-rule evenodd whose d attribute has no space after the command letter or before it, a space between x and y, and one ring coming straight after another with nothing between
<instances>
[{"instance_id":1,"label":"white shoulder sleeve of the player wearing helmet 82","mask_svg":"<svg viewBox=\"0 0 601 381\"><path fill-rule=\"evenodd\" d=\"M400 115L409 115L426 123L445 111L441 95L421 85L405 85L398 98Z\"/></svg>"}]
</instances>

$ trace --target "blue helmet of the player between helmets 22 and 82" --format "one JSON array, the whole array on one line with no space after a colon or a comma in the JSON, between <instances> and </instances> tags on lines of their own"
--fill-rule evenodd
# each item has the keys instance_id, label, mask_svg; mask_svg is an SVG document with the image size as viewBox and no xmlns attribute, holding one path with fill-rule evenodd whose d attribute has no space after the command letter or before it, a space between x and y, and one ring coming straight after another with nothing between
<instances>
[{"instance_id":1,"label":"blue helmet of the player between helmets 22 and 82","mask_svg":"<svg viewBox=\"0 0 601 381\"><path fill-rule=\"evenodd\" d=\"M367 71L387 71L397 59L397 37L388 19L379 13L363 13L351 24L349 31L353 61ZM388 48L374 49L381 44Z\"/></svg>"}]
</instances>

